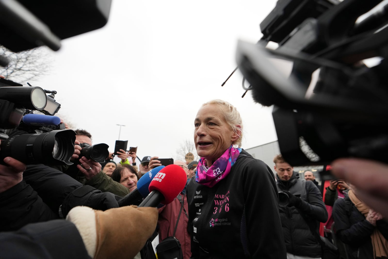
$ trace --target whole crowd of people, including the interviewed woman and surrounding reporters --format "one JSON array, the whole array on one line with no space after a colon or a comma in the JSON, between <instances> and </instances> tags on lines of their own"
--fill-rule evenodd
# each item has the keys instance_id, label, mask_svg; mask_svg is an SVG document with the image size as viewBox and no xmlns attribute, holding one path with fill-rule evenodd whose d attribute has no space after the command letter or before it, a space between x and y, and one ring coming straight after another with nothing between
<instances>
[{"instance_id":1,"label":"whole crowd of people, including the interviewed woman and surrounding reporters","mask_svg":"<svg viewBox=\"0 0 388 259\"><path fill-rule=\"evenodd\" d=\"M62 122L63 123L63 122ZM66 126L67 127L67 126ZM0 165L2 258L156 258L155 247L175 236L182 258L324 258L324 236L340 256L388 256L388 166L342 159L339 180L303 177L282 157L274 170L241 148L236 107L209 101L194 118L198 161L174 160L187 183L170 204L137 207L118 201L158 166L158 156L121 149L119 163L80 157L92 135L76 129L73 165ZM374 170L371 170L374 169ZM364 170L364 171L363 171ZM367 181L367 182L366 182ZM287 202L279 205L279 195ZM163 259L159 257L159 259Z\"/></svg>"}]
</instances>

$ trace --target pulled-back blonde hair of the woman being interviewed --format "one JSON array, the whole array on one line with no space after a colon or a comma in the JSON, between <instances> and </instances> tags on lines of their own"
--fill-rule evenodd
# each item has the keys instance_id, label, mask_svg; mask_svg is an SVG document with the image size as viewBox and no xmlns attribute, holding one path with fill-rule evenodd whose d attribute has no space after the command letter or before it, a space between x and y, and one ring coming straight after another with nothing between
<instances>
[{"instance_id":1,"label":"pulled-back blonde hair of the woman being interviewed","mask_svg":"<svg viewBox=\"0 0 388 259\"><path fill-rule=\"evenodd\" d=\"M205 106L206 104L214 104L221 108L226 122L230 125L233 132L239 136L239 138L232 144L235 144L240 148L242 141L242 119L236 107L234 107L227 101L223 101L220 99L208 101L207 103L202 104L202 106Z\"/></svg>"}]
</instances>

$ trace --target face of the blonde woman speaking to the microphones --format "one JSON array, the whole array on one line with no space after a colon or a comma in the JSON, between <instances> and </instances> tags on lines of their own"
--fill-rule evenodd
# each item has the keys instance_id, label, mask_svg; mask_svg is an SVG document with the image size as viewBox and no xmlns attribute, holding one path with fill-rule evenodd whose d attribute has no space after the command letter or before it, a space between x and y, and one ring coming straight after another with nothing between
<instances>
[{"instance_id":1,"label":"face of the blonde woman speaking to the microphones","mask_svg":"<svg viewBox=\"0 0 388 259\"><path fill-rule=\"evenodd\" d=\"M194 143L197 154L213 164L239 136L226 122L221 108L206 104L199 109L194 120Z\"/></svg>"}]
</instances>

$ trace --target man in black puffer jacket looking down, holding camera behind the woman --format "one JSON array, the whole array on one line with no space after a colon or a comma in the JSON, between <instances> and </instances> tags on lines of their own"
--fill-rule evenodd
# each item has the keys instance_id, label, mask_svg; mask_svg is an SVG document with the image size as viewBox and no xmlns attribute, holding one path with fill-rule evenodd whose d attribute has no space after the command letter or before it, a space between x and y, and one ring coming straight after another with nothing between
<instances>
[{"instance_id":1,"label":"man in black puffer jacket looking down, holding camera behind the woman","mask_svg":"<svg viewBox=\"0 0 388 259\"><path fill-rule=\"evenodd\" d=\"M320 258L321 248L309 225L318 233L317 221L327 221L322 195L312 181L300 179L282 155L275 156L274 163L277 189L289 199L288 204L279 205L287 258Z\"/></svg>"}]
</instances>

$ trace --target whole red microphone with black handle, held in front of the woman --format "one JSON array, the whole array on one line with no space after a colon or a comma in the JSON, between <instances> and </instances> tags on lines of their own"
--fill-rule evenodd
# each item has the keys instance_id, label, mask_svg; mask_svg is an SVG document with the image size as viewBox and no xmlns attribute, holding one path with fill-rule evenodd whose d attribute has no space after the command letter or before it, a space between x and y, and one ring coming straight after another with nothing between
<instances>
[{"instance_id":1,"label":"whole red microphone with black handle, held in front of the woman","mask_svg":"<svg viewBox=\"0 0 388 259\"><path fill-rule=\"evenodd\" d=\"M185 188L187 175L179 165L167 165L149 184L149 195L138 207L156 207L159 203L171 203Z\"/></svg>"}]
</instances>

